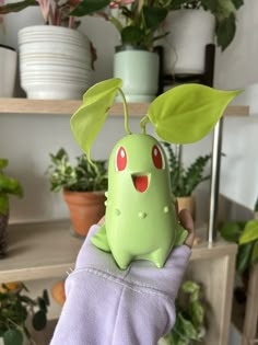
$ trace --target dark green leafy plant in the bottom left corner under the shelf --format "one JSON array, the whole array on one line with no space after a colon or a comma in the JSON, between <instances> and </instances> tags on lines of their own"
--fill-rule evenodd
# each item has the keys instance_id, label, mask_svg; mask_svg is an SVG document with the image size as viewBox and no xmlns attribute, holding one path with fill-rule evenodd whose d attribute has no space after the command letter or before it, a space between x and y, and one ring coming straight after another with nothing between
<instances>
[{"instance_id":1,"label":"dark green leafy plant in the bottom left corner under the shelf","mask_svg":"<svg viewBox=\"0 0 258 345\"><path fill-rule=\"evenodd\" d=\"M8 285L2 285L0 291L0 336L4 345L22 345L23 340L30 340L31 333L26 320L32 318L32 325L36 331L43 330L47 324L49 298L47 290L42 297L32 299L27 296L28 289L21 284L17 290L10 290Z\"/></svg>"}]
</instances>

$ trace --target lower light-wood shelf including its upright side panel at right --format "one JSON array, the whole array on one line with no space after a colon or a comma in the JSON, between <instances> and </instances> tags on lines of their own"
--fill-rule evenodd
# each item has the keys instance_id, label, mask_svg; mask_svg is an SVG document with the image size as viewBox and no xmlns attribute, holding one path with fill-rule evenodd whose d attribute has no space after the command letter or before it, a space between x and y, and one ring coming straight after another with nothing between
<instances>
[{"instance_id":1,"label":"lower light-wood shelf including its upright side panel at right","mask_svg":"<svg viewBox=\"0 0 258 345\"><path fill-rule=\"evenodd\" d=\"M40 290L47 279L66 278L82 243L70 234L69 220L11 225L9 254L0 261L0 283L44 279L36 283ZM236 251L236 244L222 241L212 246L201 242L192 250L186 278L200 283L209 301L207 320L212 326L204 344L227 344ZM54 311L51 317L58 313Z\"/></svg>"}]
</instances>

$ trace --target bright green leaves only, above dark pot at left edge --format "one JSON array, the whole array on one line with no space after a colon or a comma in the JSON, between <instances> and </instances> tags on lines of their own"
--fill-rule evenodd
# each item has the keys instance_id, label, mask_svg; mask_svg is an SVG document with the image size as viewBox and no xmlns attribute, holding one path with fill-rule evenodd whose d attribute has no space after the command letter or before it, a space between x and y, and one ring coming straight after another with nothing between
<instances>
[{"instance_id":1,"label":"bright green leaves only, above dark pot at left edge","mask_svg":"<svg viewBox=\"0 0 258 345\"><path fill-rule=\"evenodd\" d=\"M3 169L7 168L9 161L7 159L0 159L0 215L7 216L9 212L9 195L23 196L23 189L17 180L9 177L3 173Z\"/></svg>"}]
</instances>

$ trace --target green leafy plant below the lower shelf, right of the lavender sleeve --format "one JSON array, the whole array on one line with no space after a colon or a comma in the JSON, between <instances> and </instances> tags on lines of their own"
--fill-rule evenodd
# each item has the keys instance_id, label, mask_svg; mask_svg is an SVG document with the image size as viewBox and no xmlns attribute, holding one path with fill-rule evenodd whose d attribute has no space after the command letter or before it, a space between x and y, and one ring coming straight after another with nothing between
<instances>
[{"instance_id":1,"label":"green leafy plant below the lower shelf, right of the lavender sleeve","mask_svg":"<svg viewBox=\"0 0 258 345\"><path fill-rule=\"evenodd\" d=\"M183 284L176 299L176 322L166 336L169 345L189 345L194 341L203 341L204 308L200 289L200 285L191 280Z\"/></svg>"}]
</instances>

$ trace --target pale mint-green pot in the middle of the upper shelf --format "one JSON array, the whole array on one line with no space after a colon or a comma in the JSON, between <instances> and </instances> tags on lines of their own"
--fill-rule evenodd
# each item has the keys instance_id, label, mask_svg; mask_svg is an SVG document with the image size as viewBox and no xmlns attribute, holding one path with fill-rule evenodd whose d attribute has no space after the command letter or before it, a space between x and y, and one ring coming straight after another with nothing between
<instances>
[{"instance_id":1,"label":"pale mint-green pot in the middle of the upper shelf","mask_svg":"<svg viewBox=\"0 0 258 345\"><path fill-rule=\"evenodd\" d=\"M114 77L122 80L127 102L151 102L159 90L157 53L130 46L116 47Z\"/></svg>"}]
</instances>

